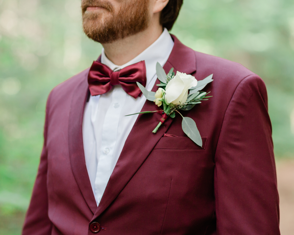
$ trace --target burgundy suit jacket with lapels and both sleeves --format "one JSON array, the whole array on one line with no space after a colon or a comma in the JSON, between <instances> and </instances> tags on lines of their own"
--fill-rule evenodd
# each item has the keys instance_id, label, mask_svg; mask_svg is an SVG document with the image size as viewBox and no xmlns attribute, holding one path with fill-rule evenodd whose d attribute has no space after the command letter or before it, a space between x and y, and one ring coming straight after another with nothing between
<instances>
[{"instance_id":1,"label":"burgundy suit jacket with lapels and both sleeves","mask_svg":"<svg viewBox=\"0 0 294 235\"><path fill-rule=\"evenodd\" d=\"M161 115L139 115L97 207L82 140L87 69L49 95L23 235L90 235L93 221L104 228L103 235L280 234L263 80L238 63L173 40L166 73L173 67L197 80L213 73L204 89L213 97L181 112L195 120L203 147L185 135L180 115L156 134L152 130ZM152 110L156 105L147 100L142 111Z\"/></svg>"}]
</instances>

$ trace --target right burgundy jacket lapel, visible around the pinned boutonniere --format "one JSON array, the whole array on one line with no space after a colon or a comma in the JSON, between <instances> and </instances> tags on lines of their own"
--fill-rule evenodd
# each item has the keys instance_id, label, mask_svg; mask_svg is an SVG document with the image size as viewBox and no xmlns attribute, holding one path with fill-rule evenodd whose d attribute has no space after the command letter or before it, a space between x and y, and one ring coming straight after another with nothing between
<instances>
[{"instance_id":1,"label":"right burgundy jacket lapel, visible around the pinned boutonniere","mask_svg":"<svg viewBox=\"0 0 294 235\"><path fill-rule=\"evenodd\" d=\"M184 46L175 36L172 35L172 38L175 44L168 61L163 66L164 70L168 73L173 67L175 70L182 73L194 74L196 72L195 52ZM158 89L156 84L159 83L160 82L157 79L152 91L155 92ZM155 110L156 105L147 100L141 112ZM164 123L164 126L161 126L156 134L152 133L152 130L156 127L160 118L161 115L158 113L138 116L138 119L125 142L113 173L111 174L93 219L96 219L113 202L146 160L159 139L168 130L168 127L172 123L172 118L168 118Z\"/></svg>"}]
</instances>

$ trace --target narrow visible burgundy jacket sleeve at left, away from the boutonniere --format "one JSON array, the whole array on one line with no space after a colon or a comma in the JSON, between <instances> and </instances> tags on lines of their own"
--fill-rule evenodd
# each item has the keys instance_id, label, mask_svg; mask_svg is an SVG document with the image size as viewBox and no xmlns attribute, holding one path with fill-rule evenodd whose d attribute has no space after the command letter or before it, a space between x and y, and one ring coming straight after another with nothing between
<instances>
[{"instance_id":1,"label":"narrow visible burgundy jacket sleeve at left, away from the boutonniere","mask_svg":"<svg viewBox=\"0 0 294 235\"><path fill-rule=\"evenodd\" d=\"M52 223L48 217L48 194L47 194L47 125L48 103L46 105L46 119L44 126L44 145L41 152L41 160L34 184L31 202L26 213L22 235L50 235Z\"/></svg>"}]
</instances>

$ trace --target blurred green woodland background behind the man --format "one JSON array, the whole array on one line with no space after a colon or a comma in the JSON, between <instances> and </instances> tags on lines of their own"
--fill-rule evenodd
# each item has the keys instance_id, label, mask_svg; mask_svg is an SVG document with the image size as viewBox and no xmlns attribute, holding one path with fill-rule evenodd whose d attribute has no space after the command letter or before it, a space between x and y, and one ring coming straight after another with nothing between
<instances>
[{"instance_id":1,"label":"blurred green woodland background behind the man","mask_svg":"<svg viewBox=\"0 0 294 235\"><path fill-rule=\"evenodd\" d=\"M184 0L172 33L196 51L260 75L280 192L281 234L294 227L294 2ZM0 234L20 234L39 164L46 98L91 66L80 0L0 0Z\"/></svg>"}]
</instances>

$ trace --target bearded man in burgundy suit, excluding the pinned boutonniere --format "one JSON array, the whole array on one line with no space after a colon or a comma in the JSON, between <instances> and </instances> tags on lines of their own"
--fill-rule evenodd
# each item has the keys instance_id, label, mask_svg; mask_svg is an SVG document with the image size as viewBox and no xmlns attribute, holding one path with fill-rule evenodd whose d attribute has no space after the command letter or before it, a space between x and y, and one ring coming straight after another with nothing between
<instances>
[{"instance_id":1,"label":"bearded man in burgundy suit, excluding the pinned boutonniere","mask_svg":"<svg viewBox=\"0 0 294 235\"><path fill-rule=\"evenodd\" d=\"M170 35L182 0L82 0L83 29L103 45L91 68L52 90L24 228L34 234L278 235L279 205L263 81ZM156 134L156 63L213 95Z\"/></svg>"}]
</instances>

